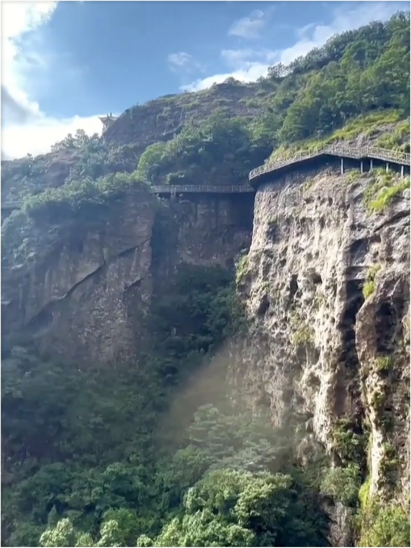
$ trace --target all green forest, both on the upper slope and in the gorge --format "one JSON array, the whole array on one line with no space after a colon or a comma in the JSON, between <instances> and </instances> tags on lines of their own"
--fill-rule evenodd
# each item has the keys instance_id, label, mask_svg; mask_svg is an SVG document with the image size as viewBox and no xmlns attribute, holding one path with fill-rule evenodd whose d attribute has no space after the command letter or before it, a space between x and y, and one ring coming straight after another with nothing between
<instances>
[{"instance_id":1,"label":"all green forest, both on the upper slope and in the gorge","mask_svg":"<svg viewBox=\"0 0 411 548\"><path fill-rule=\"evenodd\" d=\"M44 158L5 163L6 182L20 170L25 206L4 222L4 241L18 215L78 212L135 184L244 182L270 156L390 125L377 144L409 151L409 28L399 13L254 84L227 81L225 91L253 91L244 115L219 106L187 117L137 159L129 144L69 135L54 151L75 150L77 161L58 188L39 183ZM264 407L250 415L233 395L226 349L247 329L235 272L181 268L144 321L151 337L136 363L73 366L30 346L2 357L4 546L329 546L326 495L350 509L357 545L409 545L406 512L367 501L363 441L349 425L335 432L338 467L322 448L303 466L292 429L273 430Z\"/></svg>"}]
</instances>

